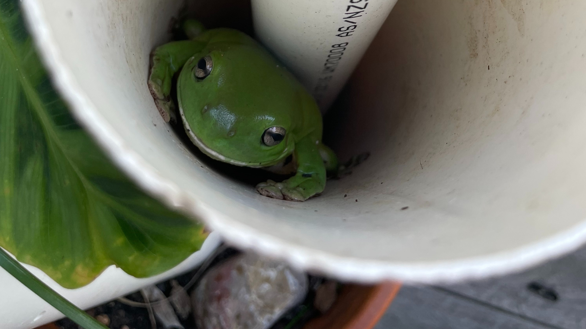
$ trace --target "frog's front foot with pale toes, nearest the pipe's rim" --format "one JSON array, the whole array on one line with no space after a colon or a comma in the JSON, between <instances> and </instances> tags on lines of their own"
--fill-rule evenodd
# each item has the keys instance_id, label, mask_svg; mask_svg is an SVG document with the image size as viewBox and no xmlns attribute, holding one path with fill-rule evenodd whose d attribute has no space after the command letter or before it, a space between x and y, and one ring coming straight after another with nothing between
<instances>
[{"instance_id":1,"label":"frog's front foot with pale toes, nearest the pipe's rim","mask_svg":"<svg viewBox=\"0 0 586 329\"><path fill-rule=\"evenodd\" d=\"M292 177L292 179L285 180L282 183L267 180L257 184L256 189L258 193L263 194L265 197L303 202L323 191L323 186L312 179L298 181L295 177Z\"/></svg>"}]
</instances>

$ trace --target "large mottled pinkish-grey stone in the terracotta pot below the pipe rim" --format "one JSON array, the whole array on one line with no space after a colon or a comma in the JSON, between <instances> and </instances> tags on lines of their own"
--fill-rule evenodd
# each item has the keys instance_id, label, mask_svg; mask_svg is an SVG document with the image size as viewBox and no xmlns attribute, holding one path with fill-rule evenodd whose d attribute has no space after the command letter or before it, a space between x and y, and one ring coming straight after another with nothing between
<instances>
[{"instance_id":1,"label":"large mottled pinkish-grey stone in the terracotta pot below the pipe rim","mask_svg":"<svg viewBox=\"0 0 586 329\"><path fill-rule=\"evenodd\" d=\"M301 303L308 277L286 263L243 253L210 269L192 292L200 329L267 329Z\"/></svg>"}]
</instances>

